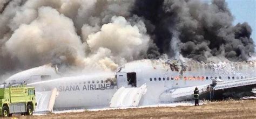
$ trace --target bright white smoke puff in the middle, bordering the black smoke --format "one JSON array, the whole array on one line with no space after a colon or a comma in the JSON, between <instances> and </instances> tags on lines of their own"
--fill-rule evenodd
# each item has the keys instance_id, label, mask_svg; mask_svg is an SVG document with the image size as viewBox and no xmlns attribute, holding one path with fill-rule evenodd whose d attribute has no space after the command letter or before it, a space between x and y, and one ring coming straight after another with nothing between
<instances>
[{"instance_id":1,"label":"bright white smoke puff in the middle, bordering the black smoke","mask_svg":"<svg viewBox=\"0 0 256 119\"><path fill-rule=\"evenodd\" d=\"M142 23L138 26L145 29ZM91 29L92 33L86 39L91 52L85 59L86 64L97 61L103 68L116 69L127 61L140 59L141 54L146 54L150 38L138 26L132 26L124 17L113 16L111 23L102 25L100 31L95 32L97 27ZM83 36L88 34L89 27L83 26Z\"/></svg>"}]
</instances>

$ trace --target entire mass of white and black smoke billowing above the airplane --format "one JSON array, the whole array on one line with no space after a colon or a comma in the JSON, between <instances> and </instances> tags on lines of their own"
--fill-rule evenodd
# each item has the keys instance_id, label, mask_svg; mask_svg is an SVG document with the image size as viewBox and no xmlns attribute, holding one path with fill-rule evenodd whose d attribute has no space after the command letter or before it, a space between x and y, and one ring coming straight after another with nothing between
<instances>
[{"instance_id":1,"label":"entire mass of white and black smoke billowing above the airplane","mask_svg":"<svg viewBox=\"0 0 256 119\"><path fill-rule=\"evenodd\" d=\"M1 0L0 74L44 64L113 71L125 62L243 61L252 27L223 0Z\"/></svg>"}]
</instances>

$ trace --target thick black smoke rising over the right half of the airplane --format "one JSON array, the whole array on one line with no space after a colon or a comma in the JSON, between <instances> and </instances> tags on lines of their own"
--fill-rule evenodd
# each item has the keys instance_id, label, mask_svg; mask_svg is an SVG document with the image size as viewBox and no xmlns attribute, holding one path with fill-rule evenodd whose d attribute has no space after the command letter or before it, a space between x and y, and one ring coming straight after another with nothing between
<instances>
[{"instance_id":1,"label":"thick black smoke rising over the right half of the airplane","mask_svg":"<svg viewBox=\"0 0 256 119\"><path fill-rule=\"evenodd\" d=\"M207 4L189 0L138 0L131 12L145 19L147 33L159 48L160 53L151 51L155 48L149 48L149 53L166 53L170 58L181 53L198 61L211 57L242 61L254 52L250 25L233 26L233 16L225 1ZM172 40L178 40L178 44L172 45ZM176 46L178 51L174 50Z\"/></svg>"}]
</instances>

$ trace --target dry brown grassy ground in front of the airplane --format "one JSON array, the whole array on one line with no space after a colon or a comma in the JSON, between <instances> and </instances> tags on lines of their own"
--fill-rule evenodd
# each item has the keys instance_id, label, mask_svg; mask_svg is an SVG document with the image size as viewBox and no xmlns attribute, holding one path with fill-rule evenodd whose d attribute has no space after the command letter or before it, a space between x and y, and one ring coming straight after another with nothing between
<instances>
[{"instance_id":1,"label":"dry brown grassy ground in front of the airplane","mask_svg":"<svg viewBox=\"0 0 256 119\"><path fill-rule=\"evenodd\" d=\"M256 118L256 100L208 102L201 106L84 111L17 118ZM13 118L13 117L12 117Z\"/></svg>"}]
</instances>

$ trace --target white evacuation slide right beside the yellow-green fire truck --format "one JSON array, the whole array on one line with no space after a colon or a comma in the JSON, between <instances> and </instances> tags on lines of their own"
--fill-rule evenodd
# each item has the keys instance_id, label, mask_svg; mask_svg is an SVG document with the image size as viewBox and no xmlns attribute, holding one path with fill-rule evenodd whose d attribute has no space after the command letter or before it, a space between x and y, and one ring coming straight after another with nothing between
<instances>
[{"instance_id":1,"label":"white evacuation slide right beside the yellow-green fire truck","mask_svg":"<svg viewBox=\"0 0 256 119\"><path fill-rule=\"evenodd\" d=\"M36 113L49 113L52 111L57 96L57 88L50 91L36 92Z\"/></svg>"}]
</instances>

